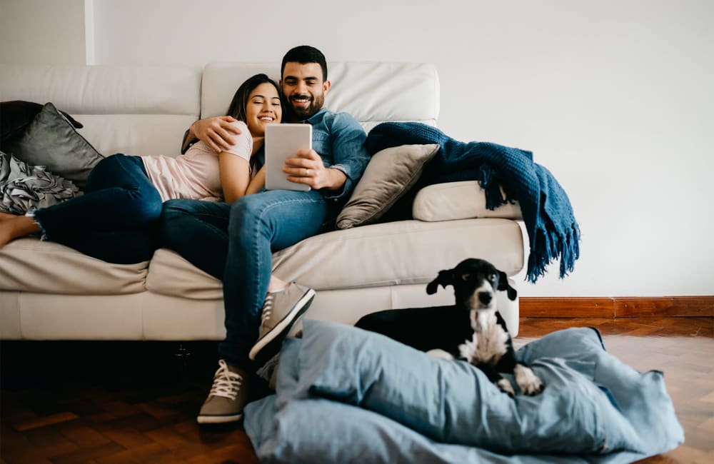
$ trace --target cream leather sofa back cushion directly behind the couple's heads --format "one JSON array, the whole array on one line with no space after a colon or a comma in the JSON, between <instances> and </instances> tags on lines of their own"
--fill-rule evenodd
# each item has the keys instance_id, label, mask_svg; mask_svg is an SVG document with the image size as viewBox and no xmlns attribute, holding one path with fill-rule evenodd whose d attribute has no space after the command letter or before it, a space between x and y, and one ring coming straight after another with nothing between
<instances>
[{"instance_id":1,"label":"cream leather sofa back cushion directly behind the couple's heads","mask_svg":"<svg viewBox=\"0 0 714 464\"><path fill-rule=\"evenodd\" d=\"M418 121L436 126L439 79L431 64L391 61L328 63L331 89L325 106L354 116L369 131L384 121ZM253 74L276 82L279 63L214 61L203 69L201 117L223 116L238 86Z\"/></svg>"}]
</instances>

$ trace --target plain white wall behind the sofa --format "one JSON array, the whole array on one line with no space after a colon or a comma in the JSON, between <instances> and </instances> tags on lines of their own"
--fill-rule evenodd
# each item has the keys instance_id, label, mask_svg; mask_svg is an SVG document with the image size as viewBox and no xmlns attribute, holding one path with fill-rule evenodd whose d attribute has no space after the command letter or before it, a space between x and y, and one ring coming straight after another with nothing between
<instances>
[{"instance_id":1,"label":"plain white wall behind the sofa","mask_svg":"<svg viewBox=\"0 0 714 464\"><path fill-rule=\"evenodd\" d=\"M89 43L78 3L0 0L0 61L430 61L443 131L533 151L575 208L575 272L521 296L714 295L713 1L85 0Z\"/></svg>"}]
</instances>

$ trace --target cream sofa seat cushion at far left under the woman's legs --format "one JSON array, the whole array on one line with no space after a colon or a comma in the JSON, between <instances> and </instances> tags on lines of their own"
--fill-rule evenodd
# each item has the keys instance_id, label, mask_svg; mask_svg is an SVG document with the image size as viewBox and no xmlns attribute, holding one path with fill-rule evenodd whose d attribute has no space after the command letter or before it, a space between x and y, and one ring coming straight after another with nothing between
<instances>
[{"instance_id":1,"label":"cream sofa seat cushion at far left under the woman's legs","mask_svg":"<svg viewBox=\"0 0 714 464\"><path fill-rule=\"evenodd\" d=\"M146 290L148 262L111 264L37 238L0 248L0 290L60 295L123 295Z\"/></svg>"}]
</instances>

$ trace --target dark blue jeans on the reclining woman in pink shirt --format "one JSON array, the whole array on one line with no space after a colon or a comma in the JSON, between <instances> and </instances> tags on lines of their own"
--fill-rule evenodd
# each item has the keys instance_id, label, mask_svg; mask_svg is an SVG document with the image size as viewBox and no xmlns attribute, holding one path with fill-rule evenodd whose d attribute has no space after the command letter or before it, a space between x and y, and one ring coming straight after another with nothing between
<instances>
[{"instance_id":1,"label":"dark blue jeans on the reclining woman in pink shirt","mask_svg":"<svg viewBox=\"0 0 714 464\"><path fill-rule=\"evenodd\" d=\"M84 195L35 211L49 240L119 264L151 259L160 215L161 195L144 162L121 153L94 166Z\"/></svg>"}]
</instances>

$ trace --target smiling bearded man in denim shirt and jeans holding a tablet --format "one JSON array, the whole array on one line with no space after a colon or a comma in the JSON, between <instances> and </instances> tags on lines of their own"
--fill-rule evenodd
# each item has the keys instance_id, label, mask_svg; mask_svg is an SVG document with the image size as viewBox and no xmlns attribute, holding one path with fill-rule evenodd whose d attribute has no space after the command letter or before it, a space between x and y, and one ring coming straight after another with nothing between
<instances>
[{"instance_id":1,"label":"smiling bearded man in denim shirt and jeans holding a tablet","mask_svg":"<svg viewBox=\"0 0 714 464\"><path fill-rule=\"evenodd\" d=\"M283 57L283 121L313 126L313 149L298 151L283 172L288 180L311 186L310 191L263 190L232 205L164 203L161 233L166 246L223 280L226 339L218 346L221 360L199 423L241 418L253 360L259 365L278 352L315 294L271 276L272 251L328 230L369 161L360 124L346 113L323 108L330 85L325 56L318 49L298 46ZM188 136L221 151L232 145L236 129L231 121L230 116L196 121Z\"/></svg>"}]
</instances>

